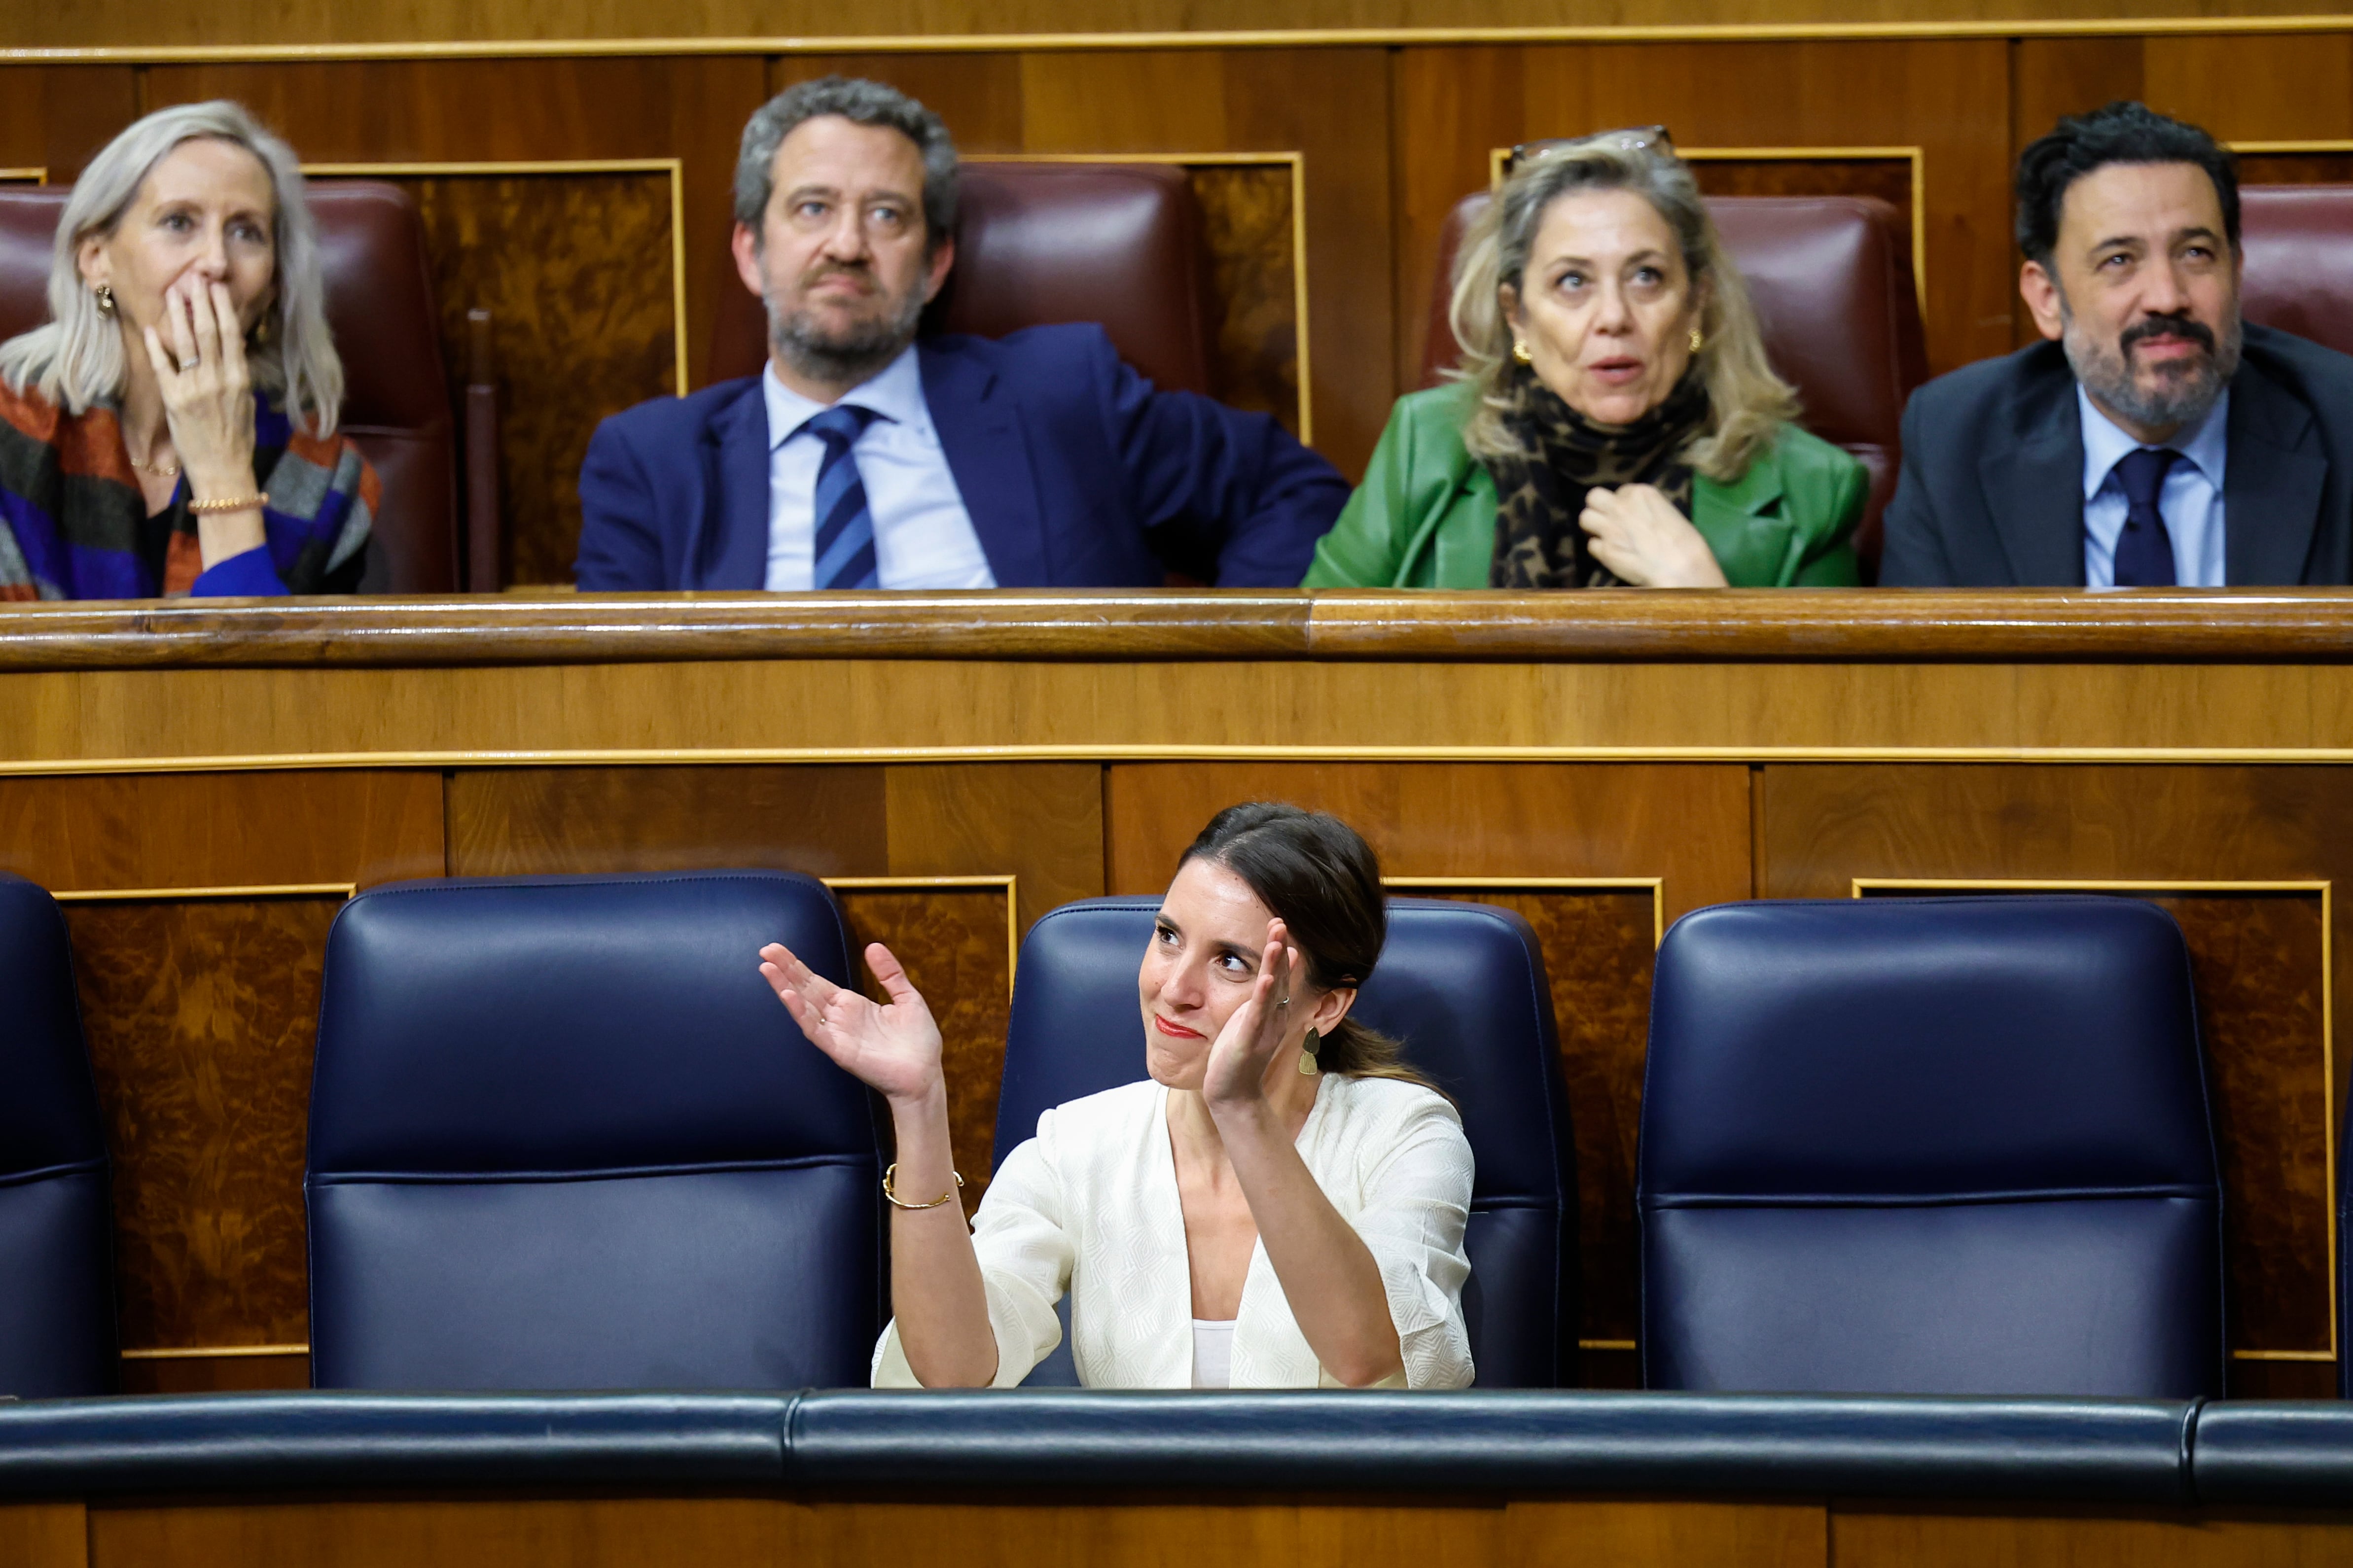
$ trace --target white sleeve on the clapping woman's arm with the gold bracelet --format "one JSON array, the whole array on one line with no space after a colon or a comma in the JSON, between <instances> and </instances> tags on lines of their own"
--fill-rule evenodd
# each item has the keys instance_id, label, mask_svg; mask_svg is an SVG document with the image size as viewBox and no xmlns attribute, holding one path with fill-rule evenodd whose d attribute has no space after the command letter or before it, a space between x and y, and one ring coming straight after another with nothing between
<instances>
[{"instance_id":1,"label":"white sleeve on the clapping woman's arm with the gold bracelet","mask_svg":"<svg viewBox=\"0 0 2353 1568\"><path fill-rule=\"evenodd\" d=\"M1064 1229L1052 1124L1054 1112L1038 1117L1038 1135L1005 1157L972 1218L972 1251L981 1260L988 1328L998 1340L998 1375L991 1380L998 1389L1019 1387L1061 1345L1054 1305L1071 1288L1075 1246ZM922 1387L899 1347L899 1319L875 1342L873 1387Z\"/></svg>"}]
</instances>

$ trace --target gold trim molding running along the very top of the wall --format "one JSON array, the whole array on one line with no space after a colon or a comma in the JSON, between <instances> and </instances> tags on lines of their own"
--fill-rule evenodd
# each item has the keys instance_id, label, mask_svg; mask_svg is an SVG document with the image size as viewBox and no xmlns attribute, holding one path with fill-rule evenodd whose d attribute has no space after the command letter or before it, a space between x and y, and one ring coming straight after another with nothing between
<instances>
[{"instance_id":1,"label":"gold trim molding running along the very top of the wall","mask_svg":"<svg viewBox=\"0 0 2353 1568\"><path fill-rule=\"evenodd\" d=\"M205 66L304 61L576 59L711 54L1068 54L1132 49L1409 49L1447 45L1885 42L2007 38L2212 38L2348 33L2346 16L2115 16L2049 21L1767 21L1560 28L1226 28L1155 33L934 33L840 38L504 38L454 42L9 47L0 66Z\"/></svg>"}]
</instances>

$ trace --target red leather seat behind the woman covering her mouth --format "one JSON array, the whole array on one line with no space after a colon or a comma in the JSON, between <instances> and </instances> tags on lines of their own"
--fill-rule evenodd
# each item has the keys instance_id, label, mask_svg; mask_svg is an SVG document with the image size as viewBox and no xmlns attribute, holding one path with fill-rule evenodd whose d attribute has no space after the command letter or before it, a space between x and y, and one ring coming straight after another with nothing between
<instances>
[{"instance_id":1,"label":"red leather seat behind the woman covering her mouth","mask_svg":"<svg viewBox=\"0 0 2353 1568\"><path fill-rule=\"evenodd\" d=\"M0 339L49 320L61 186L0 188ZM376 465L384 592L456 592L456 433L416 205L398 186L311 186L327 324L344 357L341 430Z\"/></svg>"}]
</instances>

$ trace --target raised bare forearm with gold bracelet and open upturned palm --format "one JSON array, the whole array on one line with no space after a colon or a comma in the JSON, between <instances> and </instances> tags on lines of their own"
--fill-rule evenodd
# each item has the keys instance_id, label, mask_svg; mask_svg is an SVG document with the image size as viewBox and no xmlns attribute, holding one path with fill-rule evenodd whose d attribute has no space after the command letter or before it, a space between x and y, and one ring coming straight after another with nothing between
<instances>
[{"instance_id":1,"label":"raised bare forearm with gold bracelet and open upturned palm","mask_svg":"<svg viewBox=\"0 0 2353 1568\"><path fill-rule=\"evenodd\" d=\"M776 987L809 1044L889 1103L899 1164L889 1190L889 1295L906 1363L925 1387L988 1387L998 1340L988 1291L958 1201L948 1147L948 1084L939 1070L939 1025L889 947L866 947L887 1006L826 980L781 943L760 950L760 976ZM939 1199L939 1201L934 1201Z\"/></svg>"}]
</instances>

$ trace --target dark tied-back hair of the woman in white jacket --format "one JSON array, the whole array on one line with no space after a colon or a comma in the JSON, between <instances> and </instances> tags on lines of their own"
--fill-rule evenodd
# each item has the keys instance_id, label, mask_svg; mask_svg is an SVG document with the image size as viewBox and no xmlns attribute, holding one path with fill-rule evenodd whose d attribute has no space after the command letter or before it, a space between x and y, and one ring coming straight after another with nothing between
<instances>
[{"instance_id":1,"label":"dark tied-back hair of the woman in white jacket","mask_svg":"<svg viewBox=\"0 0 2353 1568\"><path fill-rule=\"evenodd\" d=\"M1381 863L1348 823L1273 802L1226 806L1184 851L1179 870L1186 860L1212 860L1240 877L1289 929L1315 990L1372 978L1388 940L1388 903ZM1315 1060L1325 1072L1360 1079L1428 1081L1405 1065L1398 1041L1353 1013L1322 1037Z\"/></svg>"}]
</instances>

